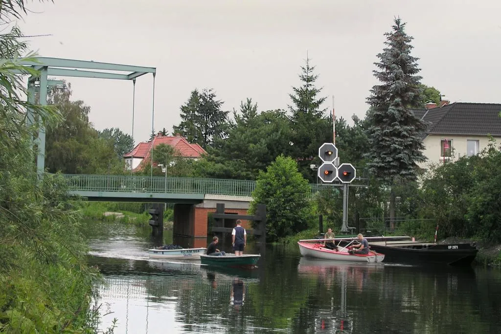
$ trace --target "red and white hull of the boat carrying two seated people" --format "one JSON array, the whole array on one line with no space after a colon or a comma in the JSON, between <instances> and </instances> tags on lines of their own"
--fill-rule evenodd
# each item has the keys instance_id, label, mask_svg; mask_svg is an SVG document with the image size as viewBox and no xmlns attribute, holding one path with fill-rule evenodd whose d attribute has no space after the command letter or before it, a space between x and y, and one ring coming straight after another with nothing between
<instances>
[{"instance_id":1,"label":"red and white hull of the boat carrying two seated people","mask_svg":"<svg viewBox=\"0 0 501 334\"><path fill-rule=\"evenodd\" d=\"M322 247L319 243L298 242L301 255L333 261L348 261L348 262L381 262L385 255L369 252L369 254L350 254L345 248L341 251L331 250Z\"/></svg>"}]
</instances>

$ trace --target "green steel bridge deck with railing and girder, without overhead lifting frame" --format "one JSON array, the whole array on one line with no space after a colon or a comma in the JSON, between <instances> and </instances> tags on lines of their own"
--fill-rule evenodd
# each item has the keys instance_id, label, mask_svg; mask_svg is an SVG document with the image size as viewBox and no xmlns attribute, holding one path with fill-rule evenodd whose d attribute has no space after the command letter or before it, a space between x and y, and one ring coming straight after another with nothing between
<instances>
[{"instance_id":1,"label":"green steel bridge deck with railing and girder, without overhead lifting frame","mask_svg":"<svg viewBox=\"0 0 501 334\"><path fill-rule=\"evenodd\" d=\"M63 177L70 194L91 201L197 204L203 202L206 195L250 201L256 189L256 181L247 180L83 174L63 174ZM331 189L330 185L310 184L310 198Z\"/></svg>"}]
</instances>

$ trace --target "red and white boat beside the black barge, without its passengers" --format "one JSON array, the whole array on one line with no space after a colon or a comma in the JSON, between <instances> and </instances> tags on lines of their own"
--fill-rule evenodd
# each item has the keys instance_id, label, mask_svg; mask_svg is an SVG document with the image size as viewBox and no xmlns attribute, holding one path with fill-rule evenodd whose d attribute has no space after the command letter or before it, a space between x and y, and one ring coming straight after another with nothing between
<instances>
[{"instance_id":1,"label":"red and white boat beside the black barge, without its passengers","mask_svg":"<svg viewBox=\"0 0 501 334\"><path fill-rule=\"evenodd\" d=\"M339 241L339 240L355 240L356 238L348 239L306 239L299 240L299 250L301 255L321 258L324 260L333 261L349 261L349 262L381 262L384 259L384 254L377 253L373 250L369 251L369 254L350 254L348 252L348 247L338 247L338 250L332 250L324 247L324 241ZM351 243L351 242L350 242Z\"/></svg>"}]
</instances>

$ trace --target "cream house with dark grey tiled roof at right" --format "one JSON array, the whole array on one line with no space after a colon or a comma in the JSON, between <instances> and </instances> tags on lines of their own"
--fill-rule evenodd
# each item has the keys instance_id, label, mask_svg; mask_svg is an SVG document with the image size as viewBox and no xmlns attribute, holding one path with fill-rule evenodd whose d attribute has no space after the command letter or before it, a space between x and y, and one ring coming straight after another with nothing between
<instances>
[{"instance_id":1,"label":"cream house with dark grey tiled roof at right","mask_svg":"<svg viewBox=\"0 0 501 334\"><path fill-rule=\"evenodd\" d=\"M424 110L413 110L428 123L423 135L423 154L428 161L421 168L476 155L487 147L489 136L501 143L501 104L442 102L441 106L429 103Z\"/></svg>"}]
</instances>

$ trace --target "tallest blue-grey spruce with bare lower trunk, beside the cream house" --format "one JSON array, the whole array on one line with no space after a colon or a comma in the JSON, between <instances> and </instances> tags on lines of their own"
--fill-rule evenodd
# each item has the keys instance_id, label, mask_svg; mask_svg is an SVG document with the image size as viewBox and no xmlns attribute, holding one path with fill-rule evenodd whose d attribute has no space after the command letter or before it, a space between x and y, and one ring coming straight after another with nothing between
<instances>
[{"instance_id":1,"label":"tallest blue-grey spruce with bare lower trunk, beside the cream house","mask_svg":"<svg viewBox=\"0 0 501 334\"><path fill-rule=\"evenodd\" d=\"M422 104L421 77L417 58L410 55L412 37L405 33L405 23L397 18L393 31L386 33L386 47L378 54L373 71L381 83L372 87L367 135L368 167L372 174L390 188L390 221L394 228L395 192L397 182L417 177L418 162L426 160L421 134L426 124L414 116L410 108Z\"/></svg>"}]
</instances>

